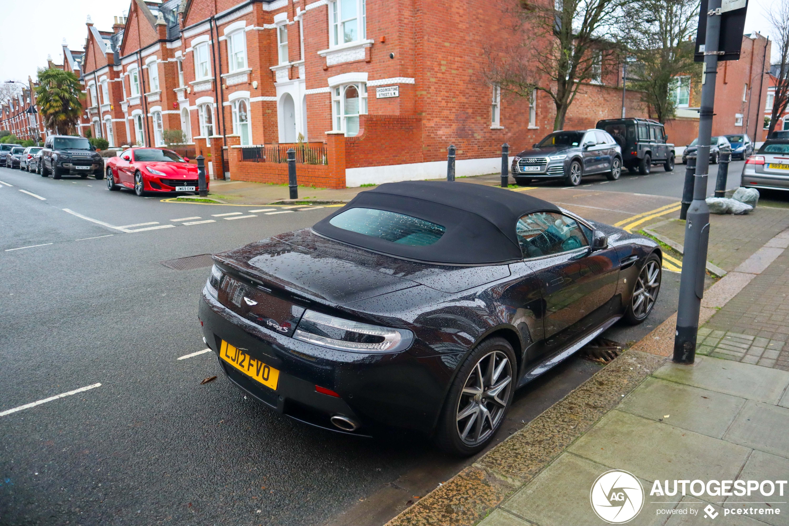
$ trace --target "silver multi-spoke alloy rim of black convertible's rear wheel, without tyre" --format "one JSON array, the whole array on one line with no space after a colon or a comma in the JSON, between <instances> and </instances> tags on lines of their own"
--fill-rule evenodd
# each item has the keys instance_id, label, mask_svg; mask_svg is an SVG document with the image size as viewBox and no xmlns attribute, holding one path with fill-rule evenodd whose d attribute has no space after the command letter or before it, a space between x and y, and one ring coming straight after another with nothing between
<instances>
[{"instance_id":1,"label":"silver multi-spoke alloy rim of black convertible's rear wheel, without tyre","mask_svg":"<svg viewBox=\"0 0 789 526\"><path fill-rule=\"evenodd\" d=\"M499 427L510 400L512 365L501 351L488 353L469 373L458 400L458 436L466 446L487 440Z\"/></svg>"}]
</instances>

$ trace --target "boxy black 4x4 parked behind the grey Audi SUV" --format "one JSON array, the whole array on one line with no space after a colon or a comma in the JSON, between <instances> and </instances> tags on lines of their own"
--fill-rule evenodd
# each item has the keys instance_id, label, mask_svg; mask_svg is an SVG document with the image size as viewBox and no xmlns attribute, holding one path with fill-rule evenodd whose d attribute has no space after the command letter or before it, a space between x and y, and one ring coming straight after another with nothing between
<instances>
[{"instance_id":1,"label":"boxy black 4x4 parked behind the grey Audi SUV","mask_svg":"<svg viewBox=\"0 0 789 526\"><path fill-rule=\"evenodd\" d=\"M630 173L645 175L652 166L662 164L664 170L674 170L674 144L662 124L652 119L608 119L597 121L597 128L610 133L622 148L622 166Z\"/></svg>"}]
</instances>

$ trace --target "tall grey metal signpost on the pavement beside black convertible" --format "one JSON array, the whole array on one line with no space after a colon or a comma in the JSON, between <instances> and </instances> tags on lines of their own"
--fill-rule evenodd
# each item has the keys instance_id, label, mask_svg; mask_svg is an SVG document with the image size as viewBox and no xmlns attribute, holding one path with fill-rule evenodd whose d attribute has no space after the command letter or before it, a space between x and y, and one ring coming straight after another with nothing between
<instances>
[{"instance_id":1,"label":"tall grey metal signpost on the pavement beside black convertible","mask_svg":"<svg viewBox=\"0 0 789 526\"><path fill-rule=\"evenodd\" d=\"M718 40L720 37L721 0L709 0L707 35L704 46L705 80L701 87L701 108L698 122L698 148L693 202L685 222L685 253L682 258L682 277L679 280L677 330L674 338L674 361L693 364L696 359L696 333L701 298L704 297L704 277L709 242L709 208L707 176L709 172L709 140L712 136L712 115L715 106L715 82L718 69ZM705 13L700 14L701 17Z\"/></svg>"}]
</instances>

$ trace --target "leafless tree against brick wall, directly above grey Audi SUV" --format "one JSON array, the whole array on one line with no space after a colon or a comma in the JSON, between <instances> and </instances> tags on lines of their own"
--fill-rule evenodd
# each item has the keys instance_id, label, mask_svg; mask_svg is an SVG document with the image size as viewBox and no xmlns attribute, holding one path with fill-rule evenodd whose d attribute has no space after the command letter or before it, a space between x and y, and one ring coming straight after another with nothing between
<instances>
[{"instance_id":1,"label":"leafless tree against brick wall, directly above grey Audi SUV","mask_svg":"<svg viewBox=\"0 0 789 526\"><path fill-rule=\"evenodd\" d=\"M554 129L583 83L600 80L618 63L615 28L624 0L513 1L503 16L513 38L485 49L485 77L503 91L531 98L546 93L556 107Z\"/></svg>"}]
</instances>

